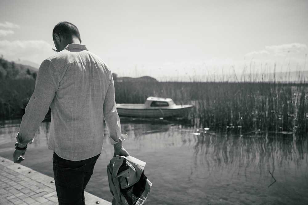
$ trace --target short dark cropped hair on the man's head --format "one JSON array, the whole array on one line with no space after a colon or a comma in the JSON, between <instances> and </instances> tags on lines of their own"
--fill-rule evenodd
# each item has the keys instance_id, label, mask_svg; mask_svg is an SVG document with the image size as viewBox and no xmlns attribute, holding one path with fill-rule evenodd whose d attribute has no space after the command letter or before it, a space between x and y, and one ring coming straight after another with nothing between
<instances>
[{"instance_id":1,"label":"short dark cropped hair on the man's head","mask_svg":"<svg viewBox=\"0 0 308 205\"><path fill-rule=\"evenodd\" d=\"M81 43L81 38L79 30L77 27L67 21L63 21L55 25L54 30L52 31L52 38L55 40L55 34L61 35L64 39L71 39L73 36L77 37Z\"/></svg>"}]
</instances>

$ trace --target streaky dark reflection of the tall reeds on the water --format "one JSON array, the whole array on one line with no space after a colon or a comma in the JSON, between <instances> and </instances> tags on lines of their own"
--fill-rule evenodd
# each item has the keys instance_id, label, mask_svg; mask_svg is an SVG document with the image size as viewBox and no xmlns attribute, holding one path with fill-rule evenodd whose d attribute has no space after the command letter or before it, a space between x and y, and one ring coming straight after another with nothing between
<instances>
[{"instance_id":1,"label":"streaky dark reflection of the tall reeds on the water","mask_svg":"<svg viewBox=\"0 0 308 205\"><path fill-rule=\"evenodd\" d=\"M200 168L207 168L208 173L227 170L239 174L251 168L259 170L263 175L268 170L284 169L294 163L300 168L306 164L307 170L307 139L293 135L280 136L224 136L221 134L200 133L190 136L185 134L183 143L193 145L194 166L192 174ZM306 178L307 180L307 178Z\"/></svg>"}]
</instances>

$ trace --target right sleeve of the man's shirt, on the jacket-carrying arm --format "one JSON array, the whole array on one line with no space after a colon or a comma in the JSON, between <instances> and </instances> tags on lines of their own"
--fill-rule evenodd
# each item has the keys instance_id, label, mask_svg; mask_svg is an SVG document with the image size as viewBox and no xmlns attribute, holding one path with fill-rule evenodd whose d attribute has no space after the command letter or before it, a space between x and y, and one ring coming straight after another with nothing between
<instances>
[{"instance_id":1,"label":"right sleeve of the man's shirt, on the jacket-carrying arm","mask_svg":"<svg viewBox=\"0 0 308 205\"><path fill-rule=\"evenodd\" d=\"M119 142L119 140L123 141L126 139L126 134L121 134L121 123L118 112L116 111L115 104L115 87L114 81L111 74L111 80L109 87L107 89L107 93L105 96L105 101L103 104L104 110L104 119L107 125L107 129L110 136L110 143L115 144Z\"/></svg>"}]
</instances>

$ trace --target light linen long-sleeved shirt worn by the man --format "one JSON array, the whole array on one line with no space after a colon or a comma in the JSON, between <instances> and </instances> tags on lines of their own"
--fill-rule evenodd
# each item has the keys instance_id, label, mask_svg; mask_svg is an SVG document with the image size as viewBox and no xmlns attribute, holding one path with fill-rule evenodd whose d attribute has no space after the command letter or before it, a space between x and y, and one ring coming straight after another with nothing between
<instances>
[{"instance_id":1,"label":"light linen long-sleeved shirt worn by the man","mask_svg":"<svg viewBox=\"0 0 308 205\"><path fill-rule=\"evenodd\" d=\"M16 137L34 139L51 108L48 149L67 160L85 160L101 153L105 119L111 144L124 140L115 105L111 70L85 45L69 44L44 60Z\"/></svg>"}]
</instances>

